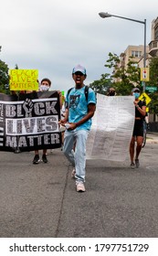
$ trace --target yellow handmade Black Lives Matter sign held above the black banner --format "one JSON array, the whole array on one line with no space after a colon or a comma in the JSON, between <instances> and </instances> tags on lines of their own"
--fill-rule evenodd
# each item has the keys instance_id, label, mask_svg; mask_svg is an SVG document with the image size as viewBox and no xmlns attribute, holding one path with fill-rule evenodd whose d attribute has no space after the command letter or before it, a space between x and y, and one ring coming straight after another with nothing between
<instances>
[{"instance_id":1,"label":"yellow handmade Black Lives Matter sign held above the black banner","mask_svg":"<svg viewBox=\"0 0 158 256\"><path fill-rule=\"evenodd\" d=\"M10 91L38 91L37 69L10 69Z\"/></svg>"}]
</instances>

